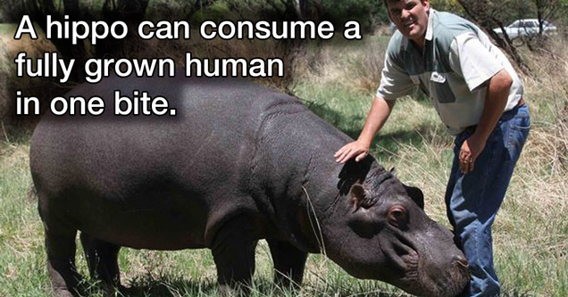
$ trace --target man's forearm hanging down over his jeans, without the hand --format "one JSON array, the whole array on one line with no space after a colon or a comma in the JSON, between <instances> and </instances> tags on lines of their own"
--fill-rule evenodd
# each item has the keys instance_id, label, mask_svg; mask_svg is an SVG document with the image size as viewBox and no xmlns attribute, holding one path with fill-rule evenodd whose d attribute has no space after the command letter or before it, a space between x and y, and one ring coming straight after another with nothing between
<instances>
[{"instance_id":1,"label":"man's forearm hanging down over his jeans, without the hand","mask_svg":"<svg viewBox=\"0 0 568 297\"><path fill-rule=\"evenodd\" d=\"M497 121L505 111L509 90L513 84L513 78L506 70L497 72L489 80L489 87L485 98L485 105L481 113L480 121L473 136L479 137L484 143L489 138L491 131L496 127Z\"/></svg>"}]
</instances>

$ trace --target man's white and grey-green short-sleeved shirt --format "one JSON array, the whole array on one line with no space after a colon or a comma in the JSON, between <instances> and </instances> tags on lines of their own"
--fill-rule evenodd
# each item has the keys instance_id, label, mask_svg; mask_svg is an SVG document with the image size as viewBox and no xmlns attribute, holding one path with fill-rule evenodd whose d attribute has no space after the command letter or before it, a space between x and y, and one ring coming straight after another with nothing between
<instances>
[{"instance_id":1,"label":"man's white and grey-green short-sleeved shirt","mask_svg":"<svg viewBox=\"0 0 568 297\"><path fill-rule=\"evenodd\" d=\"M505 54L472 22L430 8L423 49L398 31L391 37L377 95L395 100L420 87L449 133L457 135L478 124L487 82L503 69L513 78L509 111L522 98L522 82Z\"/></svg>"}]
</instances>

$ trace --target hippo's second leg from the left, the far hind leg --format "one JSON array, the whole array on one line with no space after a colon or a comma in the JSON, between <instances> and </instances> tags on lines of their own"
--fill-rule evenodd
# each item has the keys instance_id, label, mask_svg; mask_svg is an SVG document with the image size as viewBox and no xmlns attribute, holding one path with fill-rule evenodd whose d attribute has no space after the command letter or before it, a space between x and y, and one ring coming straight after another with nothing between
<instances>
[{"instance_id":1,"label":"hippo's second leg from the left, the far hind leg","mask_svg":"<svg viewBox=\"0 0 568 297\"><path fill-rule=\"evenodd\" d=\"M96 239L85 232L81 232L80 238L91 278L102 281L107 290L118 288L121 285L118 266L121 247Z\"/></svg>"}]
</instances>

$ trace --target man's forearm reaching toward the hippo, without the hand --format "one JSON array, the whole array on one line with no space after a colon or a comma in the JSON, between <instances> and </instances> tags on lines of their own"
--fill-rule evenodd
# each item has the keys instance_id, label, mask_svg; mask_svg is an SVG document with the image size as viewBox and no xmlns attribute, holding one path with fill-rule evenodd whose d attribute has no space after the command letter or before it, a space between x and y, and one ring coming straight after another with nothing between
<instances>
[{"instance_id":1,"label":"man's forearm reaching toward the hippo, without the hand","mask_svg":"<svg viewBox=\"0 0 568 297\"><path fill-rule=\"evenodd\" d=\"M371 145L372 138L387 121L388 115L390 114L390 111L392 111L393 106L395 106L394 100L385 100L375 95L372 101L371 111L369 111L369 115L367 116L367 120L365 120L361 135L359 135L357 140L364 144Z\"/></svg>"}]
</instances>

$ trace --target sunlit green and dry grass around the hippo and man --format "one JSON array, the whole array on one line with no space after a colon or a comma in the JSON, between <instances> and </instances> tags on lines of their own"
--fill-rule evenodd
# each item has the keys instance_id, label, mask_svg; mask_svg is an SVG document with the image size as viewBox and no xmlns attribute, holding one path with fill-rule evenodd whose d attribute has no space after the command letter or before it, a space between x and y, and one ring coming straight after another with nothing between
<instances>
[{"instance_id":1,"label":"sunlit green and dry grass around the hippo and man","mask_svg":"<svg viewBox=\"0 0 568 297\"><path fill-rule=\"evenodd\" d=\"M4 32L0 27L0 33ZM356 137L378 83L385 37L324 44L297 66L293 92L323 119ZM497 274L505 296L568 296L568 103L567 54L535 55L535 78L524 78L533 126L494 227ZM555 71L550 71L551 69ZM374 82L374 83L373 83ZM565 120L565 121L564 121ZM0 296L47 296L46 255L37 201L30 194L29 136L0 131ZM376 137L372 154L397 176L419 186L426 212L447 225L443 202L452 160L452 137L427 100L400 100ZM330 156L331 158L331 156ZM270 252L257 248L253 296L403 296L397 288L348 276L322 255L311 255L305 284L297 291L271 284ZM78 247L79 271L87 276ZM122 284L131 296L216 294L209 251L155 252L122 249ZM102 296L93 285L93 296Z\"/></svg>"}]
</instances>

